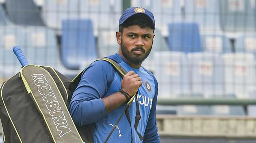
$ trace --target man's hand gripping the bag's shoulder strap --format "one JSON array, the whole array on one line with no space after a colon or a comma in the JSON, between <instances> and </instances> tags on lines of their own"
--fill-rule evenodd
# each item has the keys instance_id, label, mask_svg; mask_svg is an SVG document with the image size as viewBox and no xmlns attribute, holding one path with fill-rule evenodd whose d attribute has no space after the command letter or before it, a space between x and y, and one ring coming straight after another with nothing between
<instances>
[{"instance_id":1,"label":"man's hand gripping the bag's shoulder strap","mask_svg":"<svg viewBox=\"0 0 256 143\"><path fill-rule=\"evenodd\" d=\"M134 71L129 71L121 82L121 90L124 90L130 97L132 97L137 93L137 90L141 85L141 77L139 77L138 74L135 74Z\"/></svg>"}]
</instances>

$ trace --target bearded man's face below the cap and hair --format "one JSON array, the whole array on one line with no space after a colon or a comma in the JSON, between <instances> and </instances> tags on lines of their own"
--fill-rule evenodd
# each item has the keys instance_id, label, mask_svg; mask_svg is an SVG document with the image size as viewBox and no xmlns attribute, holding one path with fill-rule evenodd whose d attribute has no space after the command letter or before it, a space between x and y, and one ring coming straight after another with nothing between
<instances>
[{"instance_id":1,"label":"bearded man's face below the cap and hair","mask_svg":"<svg viewBox=\"0 0 256 143\"><path fill-rule=\"evenodd\" d=\"M118 37L117 37L118 38ZM120 39L121 55L130 63L140 65L148 57L152 49L153 29L141 28L138 25L124 28Z\"/></svg>"}]
</instances>

